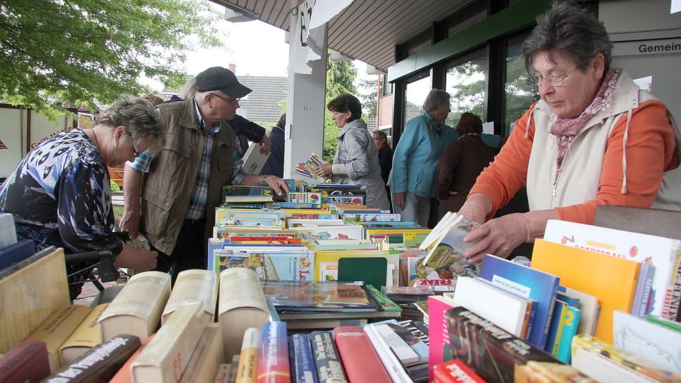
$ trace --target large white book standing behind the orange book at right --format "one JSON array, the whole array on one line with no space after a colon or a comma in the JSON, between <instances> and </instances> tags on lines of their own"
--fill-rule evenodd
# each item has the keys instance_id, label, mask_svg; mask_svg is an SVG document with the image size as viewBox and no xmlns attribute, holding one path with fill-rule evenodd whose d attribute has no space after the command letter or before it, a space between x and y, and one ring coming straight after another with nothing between
<instances>
[{"instance_id":1,"label":"large white book standing behind the orange book at right","mask_svg":"<svg viewBox=\"0 0 681 383\"><path fill-rule=\"evenodd\" d=\"M544 233L549 242L578 247L617 258L655 266L653 311L650 314L671 318L675 278L681 261L681 241L630 231L549 220ZM678 308L678 300L675 301Z\"/></svg>"}]
</instances>

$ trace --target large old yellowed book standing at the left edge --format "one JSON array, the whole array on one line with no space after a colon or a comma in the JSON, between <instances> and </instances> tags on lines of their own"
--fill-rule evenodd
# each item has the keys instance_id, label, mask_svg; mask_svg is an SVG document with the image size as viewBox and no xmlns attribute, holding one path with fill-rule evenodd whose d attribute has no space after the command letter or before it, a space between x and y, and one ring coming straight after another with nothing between
<instances>
[{"instance_id":1,"label":"large old yellowed book standing at the left edge","mask_svg":"<svg viewBox=\"0 0 681 383\"><path fill-rule=\"evenodd\" d=\"M48 247L0 271L0 353L71 303L64 250Z\"/></svg>"}]
</instances>

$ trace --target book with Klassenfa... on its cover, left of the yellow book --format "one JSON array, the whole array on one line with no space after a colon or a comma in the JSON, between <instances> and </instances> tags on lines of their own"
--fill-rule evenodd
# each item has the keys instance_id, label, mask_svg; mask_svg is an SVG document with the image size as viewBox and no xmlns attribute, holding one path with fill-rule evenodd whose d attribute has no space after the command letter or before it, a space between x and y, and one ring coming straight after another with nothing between
<instances>
[{"instance_id":1,"label":"book with Klassenfa... on its cover, left of the yellow book","mask_svg":"<svg viewBox=\"0 0 681 383\"><path fill-rule=\"evenodd\" d=\"M315 252L304 248L297 251L219 249L213 253L216 273L232 267L248 267L261 280L311 280L314 274Z\"/></svg>"}]
</instances>

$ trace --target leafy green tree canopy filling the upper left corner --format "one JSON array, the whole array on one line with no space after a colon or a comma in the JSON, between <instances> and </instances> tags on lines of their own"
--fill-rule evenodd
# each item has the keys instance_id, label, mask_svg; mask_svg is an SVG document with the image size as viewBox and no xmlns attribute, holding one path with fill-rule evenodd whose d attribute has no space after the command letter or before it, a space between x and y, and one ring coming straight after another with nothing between
<instances>
[{"instance_id":1,"label":"leafy green tree canopy filling the upper left corner","mask_svg":"<svg viewBox=\"0 0 681 383\"><path fill-rule=\"evenodd\" d=\"M178 87L185 52L222 45L219 17L196 0L3 0L0 98L54 116L144 93L141 76Z\"/></svg>"}]
</instances>

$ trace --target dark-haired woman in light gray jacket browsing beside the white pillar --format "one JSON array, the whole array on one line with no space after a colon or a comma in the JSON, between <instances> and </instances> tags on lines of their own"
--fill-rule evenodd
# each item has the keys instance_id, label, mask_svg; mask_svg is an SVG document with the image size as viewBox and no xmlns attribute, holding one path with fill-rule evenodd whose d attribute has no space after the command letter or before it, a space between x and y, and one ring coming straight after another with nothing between
<instances>
[{"instance_id":1,"label":"dark-haired woman in light gray jacket browsing beside the white pillar","mask_svg":"<svg viewBox=\"0 0 681 383\"><path fill-rule=\"evenodd\" d=\"M366 186L366 206L389 210L376 145L362 121L360 100L351 94L342 94L330 100L326 108L332 113L336 126L342 129L338 133L333 164L324 163L315 169L315 173L331 176L334 184L363 184Z\"/></svg>"}]
</instances>

